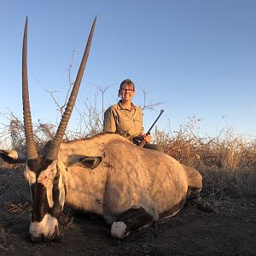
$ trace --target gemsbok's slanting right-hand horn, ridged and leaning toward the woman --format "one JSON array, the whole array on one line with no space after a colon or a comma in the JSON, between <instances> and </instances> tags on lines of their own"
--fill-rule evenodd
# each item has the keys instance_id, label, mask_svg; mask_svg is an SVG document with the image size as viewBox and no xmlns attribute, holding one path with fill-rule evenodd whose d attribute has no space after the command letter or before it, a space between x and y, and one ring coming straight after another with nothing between
<instances>
[{"instance_id":1,"label":"gemsbok's slanting right-hand horn, ridged and leaning toward the woman","mask_svg":"<svg viewBox=\"0 0 256 256\"><path fill-rule=\"evenodd\" d=\"M90 29L90 35L89 35L86 47L84 49L84 56L83 56L83 59L81 61L80 67L79 67L79 73L78 73L76 81L73 85L73 90L72 90L69 100L67 102L67 107L66 107L65 112L63 113L63 116L61 118L61 123L58 127L58 130L56 131L55 138L54 138L53 142L50 144L49 151L46 155L46 158L49 160L57 159L59 148L60 148L61 142L62 142L62 138L66 131L68 120L70 119L71 113L73 111L74 103L75 103L76 98L79 93L79 87L80 87L80 84L81 84L81 81L83 78L84 68L86 66L86 62L87 62L88 55L90 52L90 44L91 44L91 40L93 37L95 25L96 25L96 17L95 17L93 24L91 26L91 29Z\"/></svg>"}]
</instances>

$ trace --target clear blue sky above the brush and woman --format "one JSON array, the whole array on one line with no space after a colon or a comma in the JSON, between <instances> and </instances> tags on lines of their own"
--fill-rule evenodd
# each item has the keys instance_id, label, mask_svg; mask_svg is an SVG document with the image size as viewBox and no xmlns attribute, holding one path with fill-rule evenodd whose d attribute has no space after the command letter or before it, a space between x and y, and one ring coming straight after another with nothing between
<instances>
[{"instance_id":1,"label":"clear blue sky above the brush and woman","mask_svg":"<svg viewBox=\"0 0 256 256\"><path fill-rule=\"evenodd\" d=\"M21 46L28 17L28 81L32 120L54 123L55 98L64 102L68 67L79 68L97 15L77 109L83 99L102 108L118 101L124 79L136 85L134 103L162 102L143 111L145 130L177 131L201 119L201 135L222 129L256 138L256 1L253 0L9 0L0 9L0 113L22 118ZM7 120L0 115L0 123ZM73 111L69 129L78 123Z\"/></svg>"}]
</instances>

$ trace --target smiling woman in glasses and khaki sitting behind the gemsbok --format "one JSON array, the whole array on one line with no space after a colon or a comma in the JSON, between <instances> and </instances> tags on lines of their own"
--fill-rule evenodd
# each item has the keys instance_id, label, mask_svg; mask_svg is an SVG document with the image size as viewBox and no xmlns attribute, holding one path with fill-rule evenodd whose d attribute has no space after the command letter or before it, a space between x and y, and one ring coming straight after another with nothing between
<instances>
[{"instance_id":1,"label":"smiling woman in glasses and khaki sitting behind the gemsbok","mask_svg":"<svg viewBox=\"0 0 256 256\"><path fill-rule=\"evenodd\" d=\"M160 146L150 144L152 137L144 134L142 108L135 106L131 100L135 96L135 86L130 79L125 79L119 86L121 100L109 107L104 113L104 132L118 132L133 143L146 140L144 148L163 151Z\"/></svg>"}]
</instances>

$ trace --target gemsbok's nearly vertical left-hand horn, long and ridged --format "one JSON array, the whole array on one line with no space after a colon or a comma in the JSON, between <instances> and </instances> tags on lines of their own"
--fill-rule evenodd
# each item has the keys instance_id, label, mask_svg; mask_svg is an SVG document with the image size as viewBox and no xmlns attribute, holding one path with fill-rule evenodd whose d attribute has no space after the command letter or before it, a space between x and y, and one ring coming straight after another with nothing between
<instances>
[{"instance_id":1,"label":"gemsbok's nearly vertical left-hand horn, long and ridged","mask_svg":"<svg viewBox=\"0 0 256 256\"><path fill-rule=\"evenodd\" d=\"M24 29L23 48L22 48L22 102L23 102L23 119L26 135L26 151L27 159L32 160L38 158L37 146L33 136L32 118L29 104L28 95L28 82L27 82L27 62L26 62L26 49L27 49L27 17Z\"/></svg>"}]
</instances>

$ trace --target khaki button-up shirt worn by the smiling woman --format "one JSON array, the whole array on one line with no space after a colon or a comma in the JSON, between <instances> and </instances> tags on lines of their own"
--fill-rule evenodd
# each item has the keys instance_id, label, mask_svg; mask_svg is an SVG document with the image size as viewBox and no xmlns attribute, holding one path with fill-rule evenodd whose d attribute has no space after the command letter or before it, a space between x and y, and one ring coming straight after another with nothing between
<instances>
[{"instance_id":1,"label":"khaki button-up shirt worn by the smiling woman","mask_svg":"<svg viewBox=\"0 0 256 256\"><path fill-rule=\"evenodd\" d=\"M125 137L137 137L144 132L142 108L131 103L131 110L125 109L119 101L104 113L104 132L118 132Z\"/></svg>"}]
</instances>

